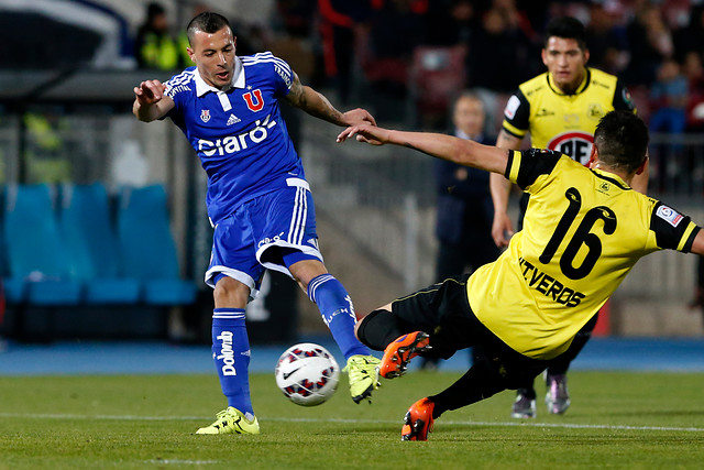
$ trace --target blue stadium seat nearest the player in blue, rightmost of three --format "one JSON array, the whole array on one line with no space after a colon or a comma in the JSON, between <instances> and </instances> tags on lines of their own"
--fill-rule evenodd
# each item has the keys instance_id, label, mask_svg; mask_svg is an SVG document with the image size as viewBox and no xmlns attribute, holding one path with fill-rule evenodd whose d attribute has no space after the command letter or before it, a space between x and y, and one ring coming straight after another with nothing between
<instances>
[{"instance_id":1,"label":"blue stadium seat nearest the player in blue, rightmost of three","mask_svg":"<svg viewBox=\"0 0 704 470\"><path fill-rule=\"evenodd\" d=\"M125 275L144 283L144 302L151 305L195 302L195 284L180 278L162 185L122 189L118 239Z\"/></svg>"}]
</instances>

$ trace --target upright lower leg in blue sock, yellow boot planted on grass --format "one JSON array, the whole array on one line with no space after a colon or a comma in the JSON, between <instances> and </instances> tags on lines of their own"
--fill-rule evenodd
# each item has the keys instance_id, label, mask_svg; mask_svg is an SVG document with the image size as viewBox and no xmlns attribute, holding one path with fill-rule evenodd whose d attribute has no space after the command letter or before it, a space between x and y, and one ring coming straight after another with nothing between
<instances>
[{"instance_id":1,"label":"upright lower leg in blue sock, yellow boot planted on grass","mask_svg":"<svg viewBox=\"0 0 704 470\"><path fill-rule=\"evenodd\" d=\"M243 308L216 308L212 313L212 357L228 408L196 434L258 434L250 397L250 341Z\"/></svg>"}]
</instances>

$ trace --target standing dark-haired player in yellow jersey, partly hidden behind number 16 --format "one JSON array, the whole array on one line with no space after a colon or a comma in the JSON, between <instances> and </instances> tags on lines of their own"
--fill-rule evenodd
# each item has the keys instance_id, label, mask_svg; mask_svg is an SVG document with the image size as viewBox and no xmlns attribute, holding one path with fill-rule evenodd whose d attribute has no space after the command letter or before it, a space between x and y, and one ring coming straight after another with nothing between
<instances>
[{"instance_id":1,"label":"standing dark-haired player in yellow jersey, partly hidden behind number 16","mask_svg":"<svg viewBox=\"0 0 704 470\"><path fill-rule=\"evenodd\" d=\"M626 88L613 75L586 67L590 53L586 50L584 26L574 18L553 19L546 30L542 62L548 72L521 84L504 110L504 122L496 145L517 150L526 133L537 149L556 150L576 162L586 164L594 129L598 120L614 109L635 112ZM632 187L646 193L647 168L636 175ZM492 237L498 247L508 245L514 229L507 216L510 183L499 174L491 175L494 200ZM520 200L518 229L528 205L528 195ZM580 332L576 342L588 340L596 315ZM581 347L574 348L574 357ZM563 357L551 364L546 373L548 393L546 404L553 414L562 414L570 406L566 371L574 357ZM518 387L512 408L515 418L536 417L536 390L532 379Z\"/></svg>"}]
</instances>

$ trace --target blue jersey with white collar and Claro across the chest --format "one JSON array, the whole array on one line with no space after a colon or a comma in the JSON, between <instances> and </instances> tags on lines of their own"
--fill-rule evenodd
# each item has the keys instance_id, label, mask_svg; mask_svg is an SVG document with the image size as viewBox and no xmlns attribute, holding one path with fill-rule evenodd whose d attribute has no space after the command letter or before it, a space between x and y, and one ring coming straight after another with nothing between
<instances>
[{"instance_id":1,"label":"blue jersey with white collar and Claro across the chest","mask_svg":"<svg viewBox=\"0 0 704 470\"><path fill-rule=\"evenodd\" d=\"M167 114L186 134L208 174L208 215L218 223L240 205L288 178L305 178L278 109L294 74L272 53L235 57L232 86L206 84L196 67L166 83Z\"/></svg>"}]
</instances>

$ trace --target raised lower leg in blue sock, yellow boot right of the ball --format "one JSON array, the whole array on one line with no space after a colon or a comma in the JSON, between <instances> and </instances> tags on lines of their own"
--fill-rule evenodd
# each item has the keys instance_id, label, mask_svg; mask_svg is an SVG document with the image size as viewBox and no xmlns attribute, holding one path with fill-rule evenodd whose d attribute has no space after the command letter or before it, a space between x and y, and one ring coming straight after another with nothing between
<instances>
[{"instance_id":1,"label":"raised lower leg in blue sock, yellow boot right of the ball","mask_svg":"<svg viewBox=\"0 0 704 470\"><path fill-rule=\"evenodd\" d=\"M352 400L354 403L371 400L372 391L380 386L380 360L354 336L356 316L350 295L340 281L326 273L308 283L308 297L318 306L322 320L348 361L343 371L350 379Z\"/></svg>"}]
</instances>

